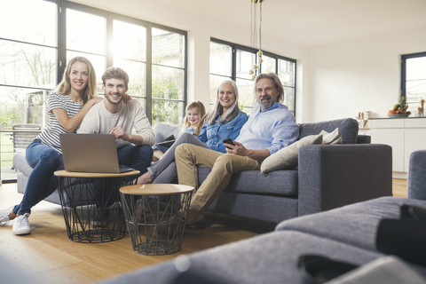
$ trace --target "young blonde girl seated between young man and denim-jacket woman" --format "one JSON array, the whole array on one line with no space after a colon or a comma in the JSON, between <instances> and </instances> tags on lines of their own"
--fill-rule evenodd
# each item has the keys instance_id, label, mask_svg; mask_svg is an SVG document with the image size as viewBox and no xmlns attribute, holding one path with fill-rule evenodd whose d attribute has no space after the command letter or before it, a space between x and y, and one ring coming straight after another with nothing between
<instances>
[{"instance_id":1,"label":"young blonde girl seated between young man and denim-jacket woman","mask_svg":"<svg viewBox=\"0 0 426 284\"><path fill-rule=\"evenodd\" d=\"M201 101L194 101L185 108L185 118L184 124L182 125L182 130L180 130L178 136L184 132L189 132L195 136L199 136L201 132L201 127L203 122L201 118L206 114L206 108L201 103ZM166 146L154 147L153 161L158 161L162 158L162 155L169 149Z\"/></svg>"}]
</instances>

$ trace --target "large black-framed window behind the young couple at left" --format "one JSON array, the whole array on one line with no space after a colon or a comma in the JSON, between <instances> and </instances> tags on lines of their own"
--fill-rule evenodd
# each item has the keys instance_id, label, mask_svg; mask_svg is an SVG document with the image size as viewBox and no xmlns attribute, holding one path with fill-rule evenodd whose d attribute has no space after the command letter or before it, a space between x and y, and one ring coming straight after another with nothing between
<instances>
[{"instance_id":1,"label":"large black-framed window behind the young couple at left","mask_svg":"<svg viewBox=\"0 0 426 284\"><path fill-rule=\"evenodd\" d=\"M128 94L153 124L177 124L184 116L185 31L66 0L6 1L0 27L2 168L12 168L7 130L20 123L46 125L46 96L77 55L95 67L99 94L106 67L122 67L130 75Z\"/></svg>"}]
</instances>

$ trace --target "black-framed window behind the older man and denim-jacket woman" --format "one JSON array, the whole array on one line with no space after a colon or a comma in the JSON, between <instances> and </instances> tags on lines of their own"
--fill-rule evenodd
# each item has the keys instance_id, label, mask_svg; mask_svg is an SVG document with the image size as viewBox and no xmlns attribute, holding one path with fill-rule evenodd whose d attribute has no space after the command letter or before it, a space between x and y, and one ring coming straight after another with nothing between
<instances>
[{"instance_id":1,"label":"black-framed window behind the older man and denim-jacket woman","mask_svg":"<svg viewBox=\"0 0 426 284\"><path fill-rule=\"evenodd\" d=\"M216 102L217 85L226 79L233 79L240 92L240 106L249 113L254 105L254 82L249 71L256 62L257 50L228 43L215 38L210 41L210 105ZM280 77L284 86L288 110L296 110L296 60L264 51L264 62L256 72L273 72Z\"/></svg>"}]
</instances>

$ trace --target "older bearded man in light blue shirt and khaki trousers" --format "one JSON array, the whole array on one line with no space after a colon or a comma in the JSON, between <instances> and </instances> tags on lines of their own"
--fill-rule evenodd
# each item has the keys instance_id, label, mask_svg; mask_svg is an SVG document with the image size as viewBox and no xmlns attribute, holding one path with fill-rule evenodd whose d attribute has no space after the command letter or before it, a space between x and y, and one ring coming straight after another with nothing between
<instances>
[{"instance_id":1,"label":"older bearded man in light blue shirt and khaki trousers","mask_svg":"<svg viewBox=\"0 0 426 284\"><path fill-rule=\"evenodd\" d=\"M298 138L299 127L295 117L287 106L281 104L284 89L277 75L258 75L255 96L257 106L253 107L240 136L233 141L234 146L225 144L226 154L190 144L177 147L175 160L179 184L197 189L197 167L211 168L209 176L193 194L187 225L202 222L202 213L225 189L234 173L259 170L266 157Z\"/></svg>"}]
</instances>

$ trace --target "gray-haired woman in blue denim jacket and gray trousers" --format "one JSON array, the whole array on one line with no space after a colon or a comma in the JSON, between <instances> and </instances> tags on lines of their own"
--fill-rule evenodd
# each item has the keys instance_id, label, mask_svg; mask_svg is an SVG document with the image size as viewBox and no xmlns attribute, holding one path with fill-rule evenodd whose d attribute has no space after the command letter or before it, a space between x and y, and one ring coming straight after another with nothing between
<instances>
[{"instance_id":1,"label":"gray-haired woman in blue denim jacket and gray trousers","mask_svg":"<svg viewBox=\"0 0 426 284\"><path fill-rule=\"evenodd\" d=\"M183 143L210 148L226 153L223 140L235 139L240 134L248 115L238 106L238 88L233 80L225 80L217 87L217 101L198 137L183 133L162 158L138 177L138 184L170 184L177 177L175 149Z\"/></svg>"}]
</instances>

